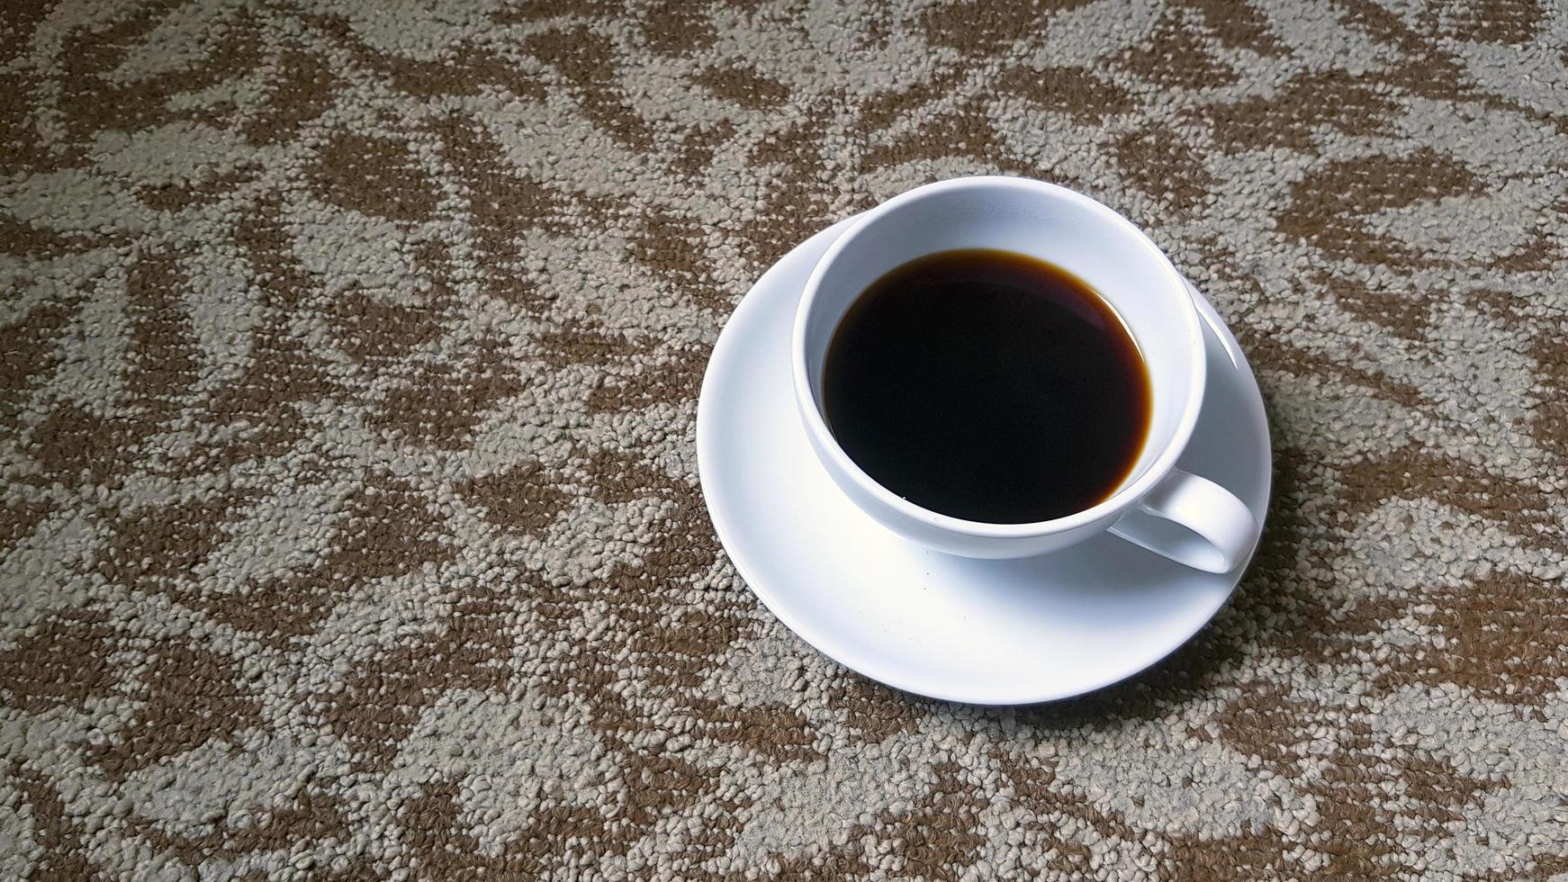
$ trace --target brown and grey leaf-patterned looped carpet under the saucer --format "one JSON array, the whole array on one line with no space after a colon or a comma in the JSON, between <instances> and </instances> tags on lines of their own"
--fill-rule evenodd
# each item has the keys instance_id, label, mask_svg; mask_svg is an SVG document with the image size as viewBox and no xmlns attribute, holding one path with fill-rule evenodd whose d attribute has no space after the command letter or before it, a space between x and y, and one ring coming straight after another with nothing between
<instances>
[{"instance_id":1,"label":"brown and grey leaf-patterned looped carpet under the saucer","mask_svg":"<svg viewBox=\"0 0 1568 882\"><path fill-rule=\"evenodd\" d=\"M22 2L0 47L0 877L1568 873L1563 5ZM1232 603L1049 707L826 661L696 490L751 280L969 172L1148 229L1275 431Z\"/></svg>"}]
</instances>

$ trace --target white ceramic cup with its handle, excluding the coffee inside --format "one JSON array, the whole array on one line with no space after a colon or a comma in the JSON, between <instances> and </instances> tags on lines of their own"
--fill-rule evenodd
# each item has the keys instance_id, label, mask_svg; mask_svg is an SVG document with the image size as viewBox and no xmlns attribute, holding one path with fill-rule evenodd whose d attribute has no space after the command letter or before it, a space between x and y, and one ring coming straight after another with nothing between
<instances>
[{"instance_id":1,"label":"white ceramic cup with its handle, excluding the coffee inside","mask_svg":"<svg viewBox=\"0 0 1568 882\"><path fill-rule=\"evenodd\" d=\"M1036 523L982 523L920 508L873 481L834 440L822 410L822 365L845 310L889 269L955 248L1047 260L1088 282L1121 315L1152 389L1137 464L1104 501ZM795 401L817 459L844 493L889 530L967 558L1024 558L1102 530L1207 572L1229 572L1256 536L1247 506L1176 468L1198 421L1204 342L1187 282L1132 222L1088 196L1016 177L919 186L861 215L806 282L792 343Z\"/></svg>"}]
</instances>

